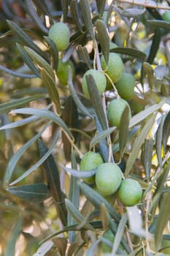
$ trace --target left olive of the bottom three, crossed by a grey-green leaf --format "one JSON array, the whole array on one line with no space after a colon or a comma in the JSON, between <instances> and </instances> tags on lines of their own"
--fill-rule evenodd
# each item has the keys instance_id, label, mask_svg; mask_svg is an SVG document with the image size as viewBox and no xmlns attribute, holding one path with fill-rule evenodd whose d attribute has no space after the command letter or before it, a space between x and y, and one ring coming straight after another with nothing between
<instances>
[{"instance_id":1,"label":"left olive of the bottom three, crossed by a grey-green leaf","mask_svg":"<svg viewBox=\"0 0 170 256\"><path fill-rule=\"evenodd\" d=\"M103 159L99 153L88 151L82 157L80 162L80 170L93 170L103 163ZM87 184L93 184L95 182L95 176L85 177L83 181Z\"/></svg>"}]
</instances>

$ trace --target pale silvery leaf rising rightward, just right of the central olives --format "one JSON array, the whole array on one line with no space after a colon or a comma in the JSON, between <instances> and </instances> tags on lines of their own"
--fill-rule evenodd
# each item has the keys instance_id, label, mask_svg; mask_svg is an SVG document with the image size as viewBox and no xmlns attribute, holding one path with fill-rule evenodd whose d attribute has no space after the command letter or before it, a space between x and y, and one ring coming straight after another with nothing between
<instances>
[{"instance_id":1,"label":"pale silvery leaf rising rightward, just right of the central olives","mask_svg":"<svg viewBox=\"0 0 170 256\"><path fill-rule=\"evenodd\" d=\"M142 110L140 113L137 113L135 116L132 116L130 120L129 128L134 127L136 124L139 124L145 118L150 116L154 111L159 110L164 103L166 103L166 99L163 99L158 104L151 105L150 107Z\"/></svg>"}]
</instances>

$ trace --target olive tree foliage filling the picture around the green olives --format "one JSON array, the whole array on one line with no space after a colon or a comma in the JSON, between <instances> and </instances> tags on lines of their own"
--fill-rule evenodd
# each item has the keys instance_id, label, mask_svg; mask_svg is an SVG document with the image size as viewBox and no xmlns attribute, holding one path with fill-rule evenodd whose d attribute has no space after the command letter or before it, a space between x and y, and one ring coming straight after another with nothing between
<instances>
[{"instance_id":1,"label":"olive tree foliage filling the picture around the green olives","mask_svg":"<svg viewBox=\"0 0 170 256\"><path fill-rule=\"evenodd\" d=\"M169 255L169 0L1 2L4 255ZM48 37L56 22L71 35L62 52ZM110 53L135 79L119 128L107 116L121 98L107 74ZM60 61L72 61L60 71L64 84ZM88 69L107 78L100 95L87 75L90 99L82 91ZM138 181L140 203L123 206L117 193L104 197L86 184L97 171L80 171L88 151Z\"/></svg>"}]
</instances>

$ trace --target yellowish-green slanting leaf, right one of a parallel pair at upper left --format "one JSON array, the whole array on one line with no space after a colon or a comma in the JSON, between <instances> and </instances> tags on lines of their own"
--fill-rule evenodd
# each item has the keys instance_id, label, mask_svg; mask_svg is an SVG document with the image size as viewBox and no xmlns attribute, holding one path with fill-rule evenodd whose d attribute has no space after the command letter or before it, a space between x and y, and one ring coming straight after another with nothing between
<instances>
[{"instance_id":1,"label":"yellowish-green slanting leaf, right one of a parallel pair at upper left","mask_svg":"<svg viewBox=\"0 0 170 256\"><path fill-rule=\"evenodd\" d=\"M53 69L50 67L50 64L48 64L47 61L45 61L45 59L39 56L39 54L37 54L36 51L26 46L25 49L28 55L31 56L31 59L34 60L35 64L37 64L41 69L44 68L48 75L52 78L52 80L55 80Z\"/></svg>"}]
</instances>

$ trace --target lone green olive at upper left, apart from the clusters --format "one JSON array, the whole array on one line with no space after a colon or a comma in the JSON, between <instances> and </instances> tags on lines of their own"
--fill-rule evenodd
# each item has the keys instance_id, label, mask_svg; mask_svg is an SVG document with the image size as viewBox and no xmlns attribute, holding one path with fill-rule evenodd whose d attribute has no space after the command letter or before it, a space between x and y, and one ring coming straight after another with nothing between
<instances>
[{"instance_id":1,"label":"lone green olive at upper left, apart from the clusters","mask_svg":"<svg viewBox=\"0 0 170 256\"><path fill-rule=\"evenodd\" d=\"M55 42L59 51L66 50L69 46L70 31L63 22L58 22L50 27L48 36Z\"/></svg>"}]
</instances>

